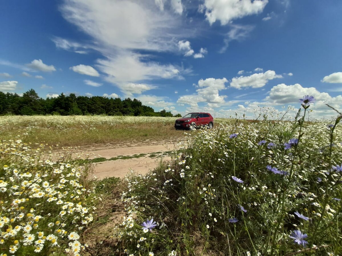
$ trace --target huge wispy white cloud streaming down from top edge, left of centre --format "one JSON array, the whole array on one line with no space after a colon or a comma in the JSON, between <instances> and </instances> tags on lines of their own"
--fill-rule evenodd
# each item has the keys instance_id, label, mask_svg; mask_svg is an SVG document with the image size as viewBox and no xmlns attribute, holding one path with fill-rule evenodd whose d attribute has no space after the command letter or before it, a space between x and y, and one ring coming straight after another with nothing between
<instances>
[{"instance_id":1,"label":"huge wispy white cloud streaming down from top edge, left of centre","mask_svg":"<svg viewBox=\"0 0 342 256\"><path fill-rule=\"evenodd\" d=\"M151 4L153 2L155 4ZM177 42L181 38L197 33L182 23L183 18L175 13L175 10L180 13L180 6L181 1L165 0L67 0L60 10L68 22L92 38L86 47L104 56L97 60L96 68L107 75L105 80L124 89L127 83L140 84L146 79L159 78L183 79L182 74L191 72L181 65L156 62L153 53L146 54L177 52ZM70 44L66 43L65 48L74 47Z\"/></svg>"}]
</instances>

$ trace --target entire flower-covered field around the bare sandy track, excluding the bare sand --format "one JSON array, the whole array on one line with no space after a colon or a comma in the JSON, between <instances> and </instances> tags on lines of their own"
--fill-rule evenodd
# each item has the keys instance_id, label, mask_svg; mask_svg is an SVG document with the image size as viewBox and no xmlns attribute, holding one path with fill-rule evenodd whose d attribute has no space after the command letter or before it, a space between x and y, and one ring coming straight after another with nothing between
<instances>
[{"instance_id":1,"label":"entire flower-covered field around the bare sandy track, excluding the bare sand","mask_svg":"<svg viewBox=\"0 0 342 256\"><path fill-rule=\"evenodd\" d=\"M185 133L175 118L2 116L1 255L339 255L341 116L305 115ZM175 147L105 155L160 141ZM91 179L94 162L165 154Z\"/></svg>"}]
</instances>

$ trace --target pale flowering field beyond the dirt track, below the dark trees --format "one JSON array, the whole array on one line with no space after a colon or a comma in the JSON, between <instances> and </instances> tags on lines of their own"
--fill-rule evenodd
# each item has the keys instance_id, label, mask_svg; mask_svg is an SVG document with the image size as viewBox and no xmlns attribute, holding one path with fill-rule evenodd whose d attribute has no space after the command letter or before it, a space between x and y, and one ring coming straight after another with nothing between
<instances>
[{"instance_id":1,"label":"pale flowering field beyond the dirt track, below the dark trees","mask_svg":"<svg viewBox=\"0 0 342 256\"><path fill-rule=\"evenodd\" d=\"M145 116L0 116L0 138L21 136L25 143L80 146L182 138L175 117ZM230 119L216 118L215 125Z\"/></svg>"}]
</instances>

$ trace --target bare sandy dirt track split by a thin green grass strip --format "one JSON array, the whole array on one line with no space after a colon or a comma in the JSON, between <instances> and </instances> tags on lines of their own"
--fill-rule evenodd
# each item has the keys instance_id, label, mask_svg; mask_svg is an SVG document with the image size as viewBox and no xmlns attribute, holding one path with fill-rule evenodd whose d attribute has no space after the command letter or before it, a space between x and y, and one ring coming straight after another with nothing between
<instances>
[{"instance_id":1,"label":"bare sandy dirt track split by a thin green grass strip","mask_svg":"<svg viewBox=\"0 0 342 256\"><path fill-rule=\"evenodd\" d=\"M116 148L101 148L99 150L92 150L86 152L89 154L89 159L97 157L117 157L117 156L132 156L135 154L148 154L156 152L167 152L173 151L175 149L175 144L162 143L144 146L129 146L129 147L116 147ZM148 156L143 156L139 158L130 159L118 159L109 160L104 162L94 163L94 175L98 178L103 179L105 177L124 177L130 172L130 169L136 173L145 174L149 170L154 169L158 163L163 161L170 161L171 157L156 157L151 158Z\"/></svg>"}]
</instances>

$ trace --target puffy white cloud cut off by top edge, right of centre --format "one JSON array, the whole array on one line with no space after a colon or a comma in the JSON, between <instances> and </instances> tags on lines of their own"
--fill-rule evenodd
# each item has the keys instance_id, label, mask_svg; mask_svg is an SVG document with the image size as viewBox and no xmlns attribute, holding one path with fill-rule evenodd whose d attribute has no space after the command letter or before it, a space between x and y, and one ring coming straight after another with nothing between
<instances>
[{"instance_id":1,"label":"puffy white cloud cut off by top edge, right of centre","mask_svg":"<svg viewBox=\"0 0 342 256\"><path fill-rule=\"evenodd\" d=\"M201 9L206 9L210 25L216 20L226 25L234 19L261 13L267 3L268 0L205 0Z\"/></svg>"}]
</instances>

